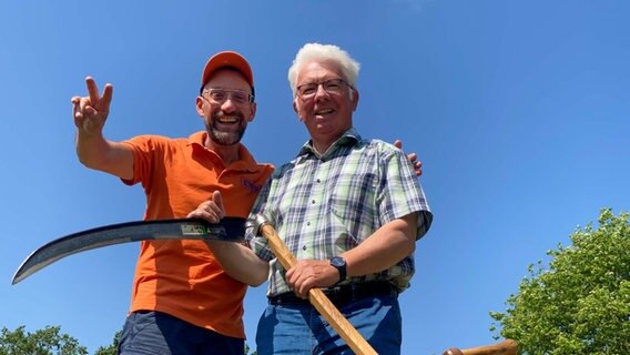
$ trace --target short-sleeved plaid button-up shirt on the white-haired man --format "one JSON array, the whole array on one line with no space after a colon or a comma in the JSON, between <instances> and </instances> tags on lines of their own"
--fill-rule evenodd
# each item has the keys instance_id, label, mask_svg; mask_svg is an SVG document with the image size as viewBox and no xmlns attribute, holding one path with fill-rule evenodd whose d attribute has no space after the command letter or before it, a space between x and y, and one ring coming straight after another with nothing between
<instances>
[{"instance_id":1,"label":"short-sleeved plaid button-up shirt on the white-haired man","mask_svg":"<svg viewBox=\"0 0 630 355\"><path fill-rule=\"evenodd\" d=\"M416 239L433 214L407 156L394 145L363 140L349 129L324 155L306 143L263 187L252 216L264 214L297 260L327 260L350 250L388 222L418 213ZM264 237L247 231L252 250L271 262L267 296L289 292L285 270ZM378 274L343 284L388 280L399 291L414 274L414 255Z\"/></svg>"}]
</instances>

